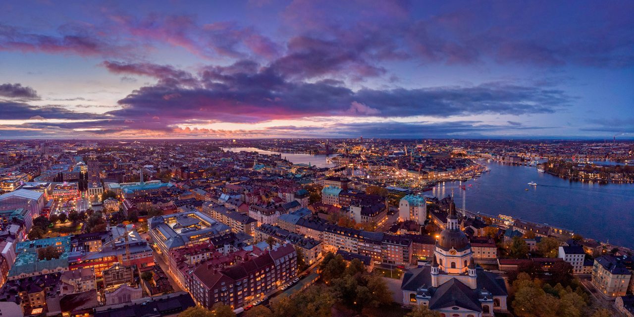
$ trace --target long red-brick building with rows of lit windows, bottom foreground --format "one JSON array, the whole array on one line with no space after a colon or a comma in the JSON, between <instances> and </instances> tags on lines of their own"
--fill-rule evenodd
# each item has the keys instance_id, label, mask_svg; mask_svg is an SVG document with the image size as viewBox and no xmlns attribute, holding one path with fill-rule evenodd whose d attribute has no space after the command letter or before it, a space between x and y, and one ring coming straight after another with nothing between
<instances>
[{"instance_id":1,"label":"long red-brick building with rows of lit windows, bottom foreground","mask_svg":"<svg viewBox=\"0 0 634 317\"><path fill-rule=\"evenodd\" d=\"M207 309L223 302L232 309L262 297L297 275L297 252L282 245L231 268L216 270L202 263L191 274L188 290Z\"/></svg>"}]
</instances>

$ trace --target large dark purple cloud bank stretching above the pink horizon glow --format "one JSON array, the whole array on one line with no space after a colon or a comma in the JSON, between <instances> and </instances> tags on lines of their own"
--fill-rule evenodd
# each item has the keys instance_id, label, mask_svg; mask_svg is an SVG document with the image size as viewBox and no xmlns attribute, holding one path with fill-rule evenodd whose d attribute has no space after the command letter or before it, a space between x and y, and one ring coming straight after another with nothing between
<instances>
[{"instance_id":1,"label":"large dark purple cloud bank stretching above the pink horizon glow","mask_svg":"<svg viewBox=\"0 0 634 317\"><path fill-rule=\"evenodd\" d=\"M306 82L278 74L273 67L239 61L226 67L205 67L198 75L169 66L107 64L115 72L160 78L119 100L107 115L150 120L166 125L189 119L214 122L262 122L303 117L446 118L484 113L522 115L552 113L569 107L564 91L509 82L477 86L370 89L353 91L339 82ZM177 110L178 109L178 110Z\"/></svg>"}]
</instances>

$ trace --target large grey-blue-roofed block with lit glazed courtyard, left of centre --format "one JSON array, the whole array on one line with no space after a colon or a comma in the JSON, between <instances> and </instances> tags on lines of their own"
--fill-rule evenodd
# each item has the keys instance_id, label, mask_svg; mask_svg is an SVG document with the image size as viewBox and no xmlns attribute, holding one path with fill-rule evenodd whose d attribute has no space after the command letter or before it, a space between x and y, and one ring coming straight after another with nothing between
<instances>
[{"instance_id":1,"label":"large grey-blue-roofed block with lit glazed courtyard, left of centre","mask_svg":"<svg viewBox=\"0 0 634 317\"><path fill-rule=\"evenodd\" d=\"M226 235L231 228L198 211L178 212L152 217L149 221L150 236L166 257L169 251L209 242L210 238Z\"/></svg>"}]
</instances>

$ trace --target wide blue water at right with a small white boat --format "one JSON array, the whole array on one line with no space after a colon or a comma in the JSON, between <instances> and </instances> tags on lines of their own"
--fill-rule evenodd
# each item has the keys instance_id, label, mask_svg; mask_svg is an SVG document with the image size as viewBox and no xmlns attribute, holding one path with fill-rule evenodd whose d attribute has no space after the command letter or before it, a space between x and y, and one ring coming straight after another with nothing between
<instances>
[{"instance_id":1,"label":"wide blue water at right with a small white boat","mask_svg":"<svg viewBox=\"0 0 634 317\"><path fill-rule=\"evenodd\" d=\"M427 194L442 198L453 189L458 208L466 193L466 207L471 212L521 217L634 248L634 184L569 181L540 173L535 167L486 165L491 171L480 178L439 184ZM530 181L538 185L528 185ZM457 188L459 184L466 184L467 190Z\"/></svg>"}]
</instances>

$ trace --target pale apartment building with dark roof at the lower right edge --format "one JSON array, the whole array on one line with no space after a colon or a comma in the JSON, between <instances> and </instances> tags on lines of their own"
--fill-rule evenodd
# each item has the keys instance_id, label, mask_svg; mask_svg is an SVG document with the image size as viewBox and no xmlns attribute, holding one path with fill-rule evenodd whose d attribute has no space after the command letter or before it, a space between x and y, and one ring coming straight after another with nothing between
<instances>
[{"instance_id":1,"label":"pale apartment building with dark roof at the lower right edge","mask_svg":"<svg viewBox=\"0 0 634 317\"><path fill-rule=\"evenodd\" d=\"M629 261L628 261L629 260ZM592 269L592 284L609 297L624 296L632 277L631 259L624 256L597 257Z\"/></svg>"}]
</instances>

